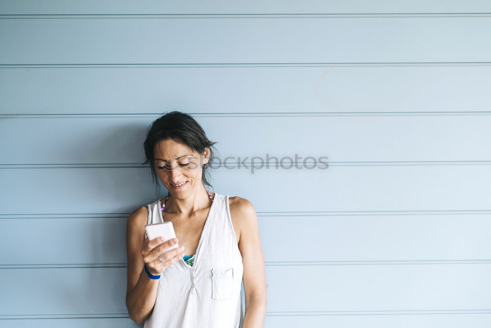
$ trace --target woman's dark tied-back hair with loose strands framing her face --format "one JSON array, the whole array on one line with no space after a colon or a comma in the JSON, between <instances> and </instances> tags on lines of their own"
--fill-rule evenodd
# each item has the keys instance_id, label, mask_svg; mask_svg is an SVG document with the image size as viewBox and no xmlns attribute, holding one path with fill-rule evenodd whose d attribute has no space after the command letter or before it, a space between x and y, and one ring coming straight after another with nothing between
<instances>
[{"instance_id":1,"label":"woman's dark tied-back hair with loose strands framing her face","mask_svg":"<svg viewBox=\"0 0 491 328\"><path fill-rule=\"evenodd\" d=\"M212 163L212 147L217 142L210 141L208 137L206 137L205 131L201 125L199 125L191 115L180 111L171 111L156 119L150 125L149 129L147 129L145 141L143 142L143 149L145 150L146 157L143 164L150 164L153 179L157 186L157 195L160 194L160 185L157 172L155 171L154 148L156 143L166 139L173 139L176 142L183 143L199 154L202 154L206 147L210 147L209 161L208 163L203 164L201 181L203 184L212 187L206 179L205 174L208 173L206 169Z\"/></svg>"}]
</instances>

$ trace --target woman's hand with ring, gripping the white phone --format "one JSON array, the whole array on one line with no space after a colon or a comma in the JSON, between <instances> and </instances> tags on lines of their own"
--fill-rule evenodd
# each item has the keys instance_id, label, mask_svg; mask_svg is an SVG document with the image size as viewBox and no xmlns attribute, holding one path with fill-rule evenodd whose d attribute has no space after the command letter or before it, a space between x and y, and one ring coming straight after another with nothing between
<instances>
[{"instance_id":1,"label":"woman's hand with ring, gripping the white phone","mask_svg":"<svg viewBox=\"0 0 491 328\"><path fill-rule=\"evenodd\" d=\"M152 240L148 240L147 237L141 246L141 256L143 257L143 262L145 262L147 265L148 271L154 275L163 273L169 265L184 257L184 246L176 247L161 256L161 258L164 260L164 263L161 263L159 260L159 254L179 242L177 238L169 239L165 243L162 242L163 240L163 237L158 237Z\"/></svg>"}]
</instances>

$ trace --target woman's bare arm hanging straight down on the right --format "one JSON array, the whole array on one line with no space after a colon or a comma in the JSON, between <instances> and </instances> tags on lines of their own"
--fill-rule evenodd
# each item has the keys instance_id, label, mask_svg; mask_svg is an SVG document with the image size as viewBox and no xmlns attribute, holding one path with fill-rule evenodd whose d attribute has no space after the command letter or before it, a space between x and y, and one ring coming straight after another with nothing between
<instances>
[{"instance_id":1,"label":"woman's bare arm hanging straight down on the right","mask_svg":"<svg viewBox=\"0 0 491 328\"><path fill-rule=\"evenodd\" d=\"M234 197L230 215L240 231L239 250L244 265L246 313L243 328L262 328L266 316L266 269L254 206L245 198Z\"/></svg>"}]
</instances>

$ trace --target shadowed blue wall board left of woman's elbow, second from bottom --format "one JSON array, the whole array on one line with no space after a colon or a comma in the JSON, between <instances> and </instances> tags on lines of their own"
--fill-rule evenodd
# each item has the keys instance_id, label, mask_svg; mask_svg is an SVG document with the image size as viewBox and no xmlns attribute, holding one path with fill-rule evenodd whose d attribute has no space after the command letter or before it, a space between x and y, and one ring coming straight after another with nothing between
<instances>
[{"instance_id":1,"label":"shadowed blue wall board left of woman's elbow, second from bottom","mask_svg":"<svg viewBox=\"0 0 491 328\"><path fill-rule=\"evenodd\" d=\"M0 316L128 314L126 274L126 268L0 269Z\"/></svg>"}]
</instances>

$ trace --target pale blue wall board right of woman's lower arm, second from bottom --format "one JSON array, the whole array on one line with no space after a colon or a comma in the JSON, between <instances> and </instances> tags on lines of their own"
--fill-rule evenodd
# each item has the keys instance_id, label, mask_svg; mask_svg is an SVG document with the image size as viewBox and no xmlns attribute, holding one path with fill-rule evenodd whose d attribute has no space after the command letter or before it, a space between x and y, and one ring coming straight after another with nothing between
<instances>
[{"instance_id":1,"label":"pale blue wall board right of woman's lower arm, second from bottom","mask_svg":"<svg viewBox=\"0 0 491 328\"><path fill-rule=\"evenodd\" d=\"M490 274L489 264L268 267L268 312L489 309Z\"/></svg>"}]
</instances>

